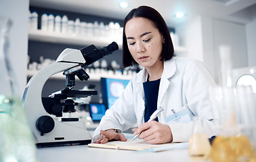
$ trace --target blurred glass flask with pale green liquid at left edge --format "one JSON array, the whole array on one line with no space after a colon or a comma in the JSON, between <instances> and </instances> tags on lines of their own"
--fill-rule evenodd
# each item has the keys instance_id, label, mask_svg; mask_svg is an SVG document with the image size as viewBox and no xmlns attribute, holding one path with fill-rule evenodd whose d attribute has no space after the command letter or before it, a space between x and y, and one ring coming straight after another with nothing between
<instances>
[{"instance_id":1,"label":"blurred glass flask with pale green liquid at left edge","mask_svg":"<svg viewBox=\"0 0 256 162\"><path fill-rule=\"evenodd\" d=\"M11 25L8 18L0 17L0 161L35 162L37 148L7 53Z\"/></svg>"}]
</instances>

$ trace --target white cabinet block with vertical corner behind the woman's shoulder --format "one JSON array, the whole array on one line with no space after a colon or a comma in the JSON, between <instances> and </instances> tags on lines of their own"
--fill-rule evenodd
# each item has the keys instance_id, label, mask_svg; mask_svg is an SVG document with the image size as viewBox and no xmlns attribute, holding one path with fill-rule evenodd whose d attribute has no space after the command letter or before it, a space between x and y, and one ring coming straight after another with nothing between
<instances>
[{"instance_id":1,"label":"white cabinet block with vertical corner behind the woman's shoulder","mask_svg":"<svg viewBox=\"0 0 256 162\"><path fill-rule=\"evenodd\" d=\"M185 24L175 26L175 30L179 35L180 44L187 49L184 53L185 57L192 57L204 62L215 81L215 59L213 49L213 20L198 16Z\"/></svg>"}]
</instances>

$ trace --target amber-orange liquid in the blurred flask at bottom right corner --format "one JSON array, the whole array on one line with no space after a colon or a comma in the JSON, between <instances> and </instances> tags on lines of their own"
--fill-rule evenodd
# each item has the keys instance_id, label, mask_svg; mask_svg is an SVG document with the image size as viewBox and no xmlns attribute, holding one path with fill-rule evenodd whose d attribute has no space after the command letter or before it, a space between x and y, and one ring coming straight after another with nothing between
<instances>
[{"instance_id":1,"label":"amber-orange liquid in the blurred flask at bottom right corner","mask_svg":"<svg viewBox=\"0 0 256 162\"><path fill-rule=\"evenodd\" d=\"M255 150L247 136L217 136L213 140L211 162L255 162Z\"/></svg>"}]
</instances>

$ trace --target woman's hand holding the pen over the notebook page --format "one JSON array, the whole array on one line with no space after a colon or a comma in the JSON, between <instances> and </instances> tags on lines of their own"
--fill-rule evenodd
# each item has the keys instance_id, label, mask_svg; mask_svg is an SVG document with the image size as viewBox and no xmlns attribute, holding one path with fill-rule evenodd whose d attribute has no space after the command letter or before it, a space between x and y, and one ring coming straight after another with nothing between
<instances>
[{"instance_id":1,"label":"woman's hand holding the pen over the notebook page","mask_svg":"<svg viewBox=\"0 0 256 162\"><path fill-rule=\"evenodd\" d=\"M149 144L163 144L173 141L171 128L165 124L157 121L146 122L133 129L134 134L140 134L139 138L148 142Z\"/></svg>"}]
</instances>

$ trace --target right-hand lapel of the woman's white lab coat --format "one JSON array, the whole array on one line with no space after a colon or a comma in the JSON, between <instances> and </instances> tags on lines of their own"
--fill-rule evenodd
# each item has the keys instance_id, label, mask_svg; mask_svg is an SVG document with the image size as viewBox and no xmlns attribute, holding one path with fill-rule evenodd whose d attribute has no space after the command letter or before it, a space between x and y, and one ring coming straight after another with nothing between
<instances>
[{"instance_id":1,"label":"right-hand lapel of the woman's white lab coat","mask_svg":"<svg viewBox=\"0 0 256 162\"><path fill-rule=\"evenodd\" d=\"M174 59L171 59L170 61L164 62L164 70L163 74L161 76L161 81L159 85L159 91L158 91L158 99L157 99L157 108L161 107L161 103L163 101L163 97L165 95L165 92L167 88L169 87L169 78L173 76L176 72L176 63Z\"/></svg>"}]
</instances>

